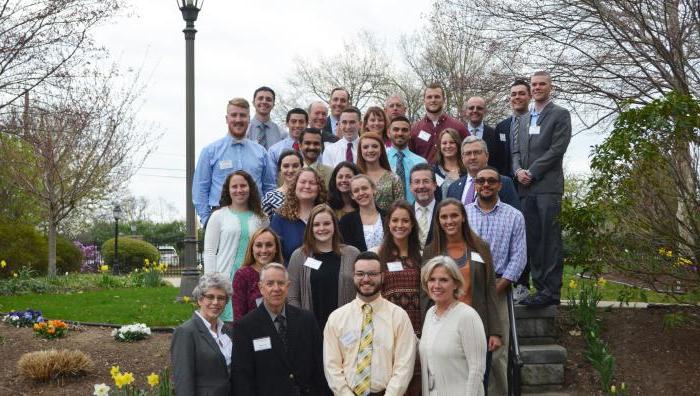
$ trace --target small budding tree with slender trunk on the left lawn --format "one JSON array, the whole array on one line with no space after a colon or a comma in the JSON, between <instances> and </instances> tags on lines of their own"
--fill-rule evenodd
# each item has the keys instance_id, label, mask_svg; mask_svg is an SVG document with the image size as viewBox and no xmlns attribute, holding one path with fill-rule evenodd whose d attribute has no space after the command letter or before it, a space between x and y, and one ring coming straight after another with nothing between
<instances>
[{"instance_id":1,"label":"small budding tree with slender trunk on the left lawn","mask_svg":"<svg viewBox=\"0 0 700 396\"><path fill-rule=\"evenodd\" d=\"M0 140L0 157L14 170L15 186L44 212L51 275L61 222L79 206L123 188L151 147L148 134L135 123L142 92L137 77L122 86L116 69L80 74L85 77L66 77L56 89L45 90L29 116L7 116L8 139ZM23 155L17 145L31 155Z\"/></svg>"}]
</instances>

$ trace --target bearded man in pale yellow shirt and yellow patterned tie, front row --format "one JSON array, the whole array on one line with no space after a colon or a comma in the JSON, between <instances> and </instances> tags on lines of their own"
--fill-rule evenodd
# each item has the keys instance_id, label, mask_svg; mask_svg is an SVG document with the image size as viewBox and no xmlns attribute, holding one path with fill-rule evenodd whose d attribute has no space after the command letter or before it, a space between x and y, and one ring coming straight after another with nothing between
<instances>
[{"instance_id":1,"label":"bearded man in pale yellow shirt and yellow patterned tie, front row","mask_svg":"<svg viewBox=\"0 0 700 396\"><path fill-rule=\"evenodd\" d=\"M411 321L381 296L376 253L360 253L354 266L357 298L333 311L323 332L328 385L335 395L403 395L416 359Z\"/></svg>"}]
</instances>

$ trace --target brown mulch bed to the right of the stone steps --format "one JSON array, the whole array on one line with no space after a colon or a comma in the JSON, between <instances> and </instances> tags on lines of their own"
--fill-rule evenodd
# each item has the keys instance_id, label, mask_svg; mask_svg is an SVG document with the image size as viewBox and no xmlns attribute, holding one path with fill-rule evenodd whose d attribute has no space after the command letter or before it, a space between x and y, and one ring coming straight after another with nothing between
<instances>
[{"instance_id":1,"label":"brown mulch bed to the right of the stone steps","mask_svg":"<svg viewBox=\"0 0 700 396\"><path fill-rule=\"evenodd\" d=\"M683 312L690 322L664 329L664 316ZM560 343L567 348L564 391L571 395L603 395L598 373L584 357L583 335L572 335L565 309L558 323ZM697 395L700 389L700 308L652 306L646 309L601 310L601 337L615 356L615 379L630 395Z\"/></svg>"}]
</instances>

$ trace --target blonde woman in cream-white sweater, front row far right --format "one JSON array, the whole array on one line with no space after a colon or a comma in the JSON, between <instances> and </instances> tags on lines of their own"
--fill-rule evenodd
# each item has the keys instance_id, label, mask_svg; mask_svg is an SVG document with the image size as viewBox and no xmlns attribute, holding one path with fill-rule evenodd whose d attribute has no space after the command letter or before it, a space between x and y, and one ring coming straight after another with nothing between
<instances>
[{"instance_id":1,"label":"blonde woman in cream-white sweater, front row far right","mask_svg":"<svg viewBox=\"0 0 700 396\"><path fill-rule=\"evenodd\" d=\"M418 350L424 396L484 394L486 335L479 314L458 300L464 278L454 260L437 256L421 270L435 305L428 309Z\"/></svg>"}]
</instances>

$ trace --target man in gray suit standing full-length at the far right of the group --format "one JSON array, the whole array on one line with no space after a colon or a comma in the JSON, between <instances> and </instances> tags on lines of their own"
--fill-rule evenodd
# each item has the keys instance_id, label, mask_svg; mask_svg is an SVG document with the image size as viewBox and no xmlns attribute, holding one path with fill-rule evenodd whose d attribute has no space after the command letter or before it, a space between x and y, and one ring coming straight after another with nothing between
<instances>
[{"instance_id":1,"label":"man in gray suit standing full-length at the far right of the group","mask_svg":"<svg viewBox=\"0 0 700 396\"><path fill-rule=\"evenodd\" d=\"M563 160L571 140L571 115L551 102L552 78L535 72L535 99L513 139L513 169L525 215L530 274L537 289L528 306L559 304L564 254L559 213L564 194Z\"/></svg>"}]
</instances>

